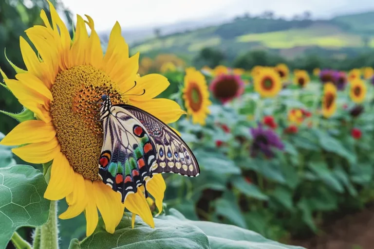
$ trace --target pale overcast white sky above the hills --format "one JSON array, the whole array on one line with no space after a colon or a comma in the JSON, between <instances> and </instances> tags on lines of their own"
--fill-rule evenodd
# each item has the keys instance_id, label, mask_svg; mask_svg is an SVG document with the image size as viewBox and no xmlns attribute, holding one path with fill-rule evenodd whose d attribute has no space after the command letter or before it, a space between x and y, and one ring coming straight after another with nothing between
<instances>
[{"instance_id":1,"label":"pale overcast white sky above the hills","mask_svg":"<svg viewBox=\"0 0 374 249\"><path fill-rule=\"evenodd\" d=\"M373 0L61 0L74 14L89 15L98 31L110 30L115 21L124 29L153 28L203 18L233 18L271 10L291 18L311 11L313 17L374 10Z\"/></svg>"}]
</instances>

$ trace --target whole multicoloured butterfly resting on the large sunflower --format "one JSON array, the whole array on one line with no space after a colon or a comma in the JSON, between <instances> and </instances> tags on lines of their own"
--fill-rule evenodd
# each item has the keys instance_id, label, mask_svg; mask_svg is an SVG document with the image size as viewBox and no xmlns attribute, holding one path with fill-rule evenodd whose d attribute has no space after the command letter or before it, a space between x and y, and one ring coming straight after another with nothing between
<instances>
[{"instance_id":1,"label":"whole multicoloured butterfly resting on the large sunflower","mask_svg":"<svg viewBox=\"0 0 374 249\"><path fill-rule=\"evenodd\" d=\"M102 95L100 121L104 140L99 158L99 176L112 190L126 197L136 193L154 174L177 173L196 177L199 164L186 142L168 125L131 105L112 105Z\"/></svg>"}]
</instances>

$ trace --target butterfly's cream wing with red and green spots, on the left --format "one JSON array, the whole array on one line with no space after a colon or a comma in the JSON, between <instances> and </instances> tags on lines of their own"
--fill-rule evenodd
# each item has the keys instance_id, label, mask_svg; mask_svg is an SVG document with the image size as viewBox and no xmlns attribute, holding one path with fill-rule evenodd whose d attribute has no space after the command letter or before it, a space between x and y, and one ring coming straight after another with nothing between
<instances>
[{"instance_id":1,"label":"butterfly's cream wing with red and green spots, on the left","mask_svg":"<svg viewBox=\"0 0 374 249\"><path fill-rule=\"evenodd\" d=\"M147 129L128 110L112 106L103 120L104 142L99 159L99 175L103 182L122 195L148 181L150 166L157 151Z\"/></svg>"}]
</instances>

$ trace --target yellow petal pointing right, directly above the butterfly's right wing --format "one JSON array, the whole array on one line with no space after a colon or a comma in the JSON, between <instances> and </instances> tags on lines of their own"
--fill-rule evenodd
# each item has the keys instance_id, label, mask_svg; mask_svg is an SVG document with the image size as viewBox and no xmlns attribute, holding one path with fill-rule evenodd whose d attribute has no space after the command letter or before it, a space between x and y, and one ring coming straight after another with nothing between
<instances>
[{"instance_id":1,"label":"yellow petal pointing right, directly above the butterfly's right wing","mask_svg":"<svg viewBox=\"0 0 374 249\"><path fill-rule=\"evenodd\" d=\"M186 114L175 101L169 99L150 99L142 102L132 101L131 103L135 107L149 112L166 124L174 123L182 114Z\"/></svg>"}]
</instances>

